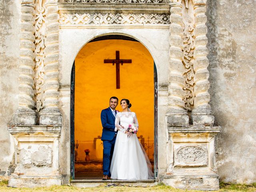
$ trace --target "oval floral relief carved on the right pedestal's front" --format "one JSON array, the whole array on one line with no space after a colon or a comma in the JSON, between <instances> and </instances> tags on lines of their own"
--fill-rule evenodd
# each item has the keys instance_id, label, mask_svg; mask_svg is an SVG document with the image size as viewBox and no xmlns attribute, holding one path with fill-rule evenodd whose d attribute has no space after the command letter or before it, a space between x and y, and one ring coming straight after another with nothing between
<instances>
[{"instance_id":1,"label":"oval floral relief carved on the right pedestal's front","mask_svg":"<svg viewBox=\"0 0 256 192\"><path fill-rule=\"evenodd\" d=\"M199 164L207 161L207 151L201 146L182 146L177 149L177 160L185 164Z\"/></svg>"}]
</instances>

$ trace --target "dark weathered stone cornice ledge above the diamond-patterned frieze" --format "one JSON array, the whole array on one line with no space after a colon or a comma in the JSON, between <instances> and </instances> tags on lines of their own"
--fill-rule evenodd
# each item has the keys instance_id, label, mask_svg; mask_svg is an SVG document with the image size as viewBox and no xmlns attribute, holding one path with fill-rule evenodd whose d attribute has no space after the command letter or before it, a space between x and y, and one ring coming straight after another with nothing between
<instances>
[{"instance_id":1,"label":"dark weathered stone cornice ledge above the diamond-patterned frieze","mask_svg":"<svg viewBox=\"0 0 256 192\"><path fill-rule=\"evenodd\" d=\"M169 14L169 4L58 3L60 13Z\"/></svg>"}]
</instances>

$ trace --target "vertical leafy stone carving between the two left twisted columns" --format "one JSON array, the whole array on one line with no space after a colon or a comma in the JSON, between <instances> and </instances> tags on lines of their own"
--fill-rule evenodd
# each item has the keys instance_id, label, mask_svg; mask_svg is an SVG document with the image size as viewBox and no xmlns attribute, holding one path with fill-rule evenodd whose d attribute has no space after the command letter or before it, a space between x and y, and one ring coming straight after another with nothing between
<instances>
[{"instance_id":1,"label":"vertical leafy stone carving between the two left twisted columns","mask_svg":"<svg viewBox=\"0 0 256 192\"><path fill-rule=\"evenodd\" d=\"M45 48L45 8L42 0L38 1L36 6L36 23L35 23L35 75L34 75L34 91L35 105L39 112L43 108L43 85L44 85L44 48Z\"/></svg>"}]
</instances>

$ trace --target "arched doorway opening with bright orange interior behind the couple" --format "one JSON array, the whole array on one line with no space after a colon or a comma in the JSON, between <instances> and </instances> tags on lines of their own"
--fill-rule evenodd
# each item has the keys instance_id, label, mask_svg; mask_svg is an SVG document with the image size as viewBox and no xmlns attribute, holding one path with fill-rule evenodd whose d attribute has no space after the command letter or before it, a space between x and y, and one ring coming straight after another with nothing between
<instances>
[{"instance_id":1,"label":"arched doorway opening with bright orange interior behind the couple","mask_svg":"<svg viewBox=\"0 0 256 192\"><path fill-rule=\"evenodd\" d=\"M131 59L116 66L104 59ZM116 65L116 64L115 64ZM75 80L76 79L76 80ZM140 124L138 138L158 177L157 72L148 50L134 38L100 36L88 42L74 60L71 73L71 176L73 179L102 178L102 126L100 112L109 107L111 96L128 98ZM116 108L120 110L120 105ZM87 156L86 156L87 150ZM88 154L88 150L90 151ZM88 156L89 155L89 156Z\"/></svg>"}]
</instances>

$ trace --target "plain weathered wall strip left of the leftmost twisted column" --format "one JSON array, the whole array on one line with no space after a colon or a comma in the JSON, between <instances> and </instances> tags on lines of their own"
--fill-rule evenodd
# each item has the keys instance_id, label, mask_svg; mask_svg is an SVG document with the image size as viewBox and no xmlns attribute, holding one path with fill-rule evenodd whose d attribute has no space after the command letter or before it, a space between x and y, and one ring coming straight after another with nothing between
<instances>
[{"instance_id":1,"label":"plain weathered wall strip left of the leftmost twisted column","mask_svg":"<svg viewBox=\"0 0 256 192\"><path fill-rule=\"evenodd\" d=\"M18 107L20 4L0 1L0 175L13 172L14 143L7 131Z\"/></svg>"}]
</instances>

